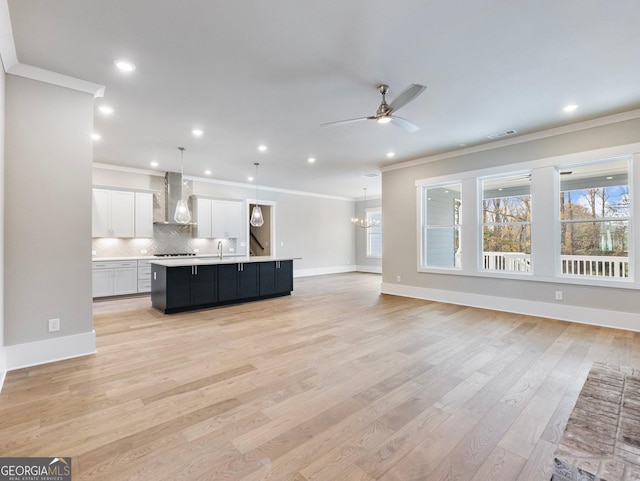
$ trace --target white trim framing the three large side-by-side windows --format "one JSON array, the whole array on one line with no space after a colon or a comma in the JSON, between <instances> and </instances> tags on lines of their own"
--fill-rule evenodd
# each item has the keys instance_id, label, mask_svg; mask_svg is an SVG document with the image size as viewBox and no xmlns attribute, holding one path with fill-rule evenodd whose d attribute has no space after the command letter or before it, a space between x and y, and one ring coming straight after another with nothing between
<instances>
[{"instance_id":1,"label":"white trim framing the three large side-by-side windows","mask_svg":"<svg viewBox=\"0 0 640 481\"><path fill-rule=\"evenodd\" d=\"M640 239L640 222L634 219L634 215L640 216L640 196L631 196L631 219L629 220L629 252L631 253L629 265L629 278L591 278L591 277L574 277L565 276L558 273L559 266L556 266L555 260L559 258L559 243L555 242L559 237L559 199L557 195L541 196L534 191L535 186L541 185L540 181L533 182L536 177L548 177L545 185L551 185L550 176L556 179L554 192L559 192L558 176L555 176L555 167L562 164L590 162L598 160L606 160L615 157L631 157L629 172L629 190L630 195L634 188L640 188L640 168L635 168L636 163L640 162L640 142L633 144L625 144L615 147L596 149L591 151L576 152L571 154L559 155L554 157L528 160L509 165L498 167L489 167L486 169L478 169L468 172L456 173L451 175L437 176L432 178L418 179L415 181L416 186L416 225L417 225L417 272L433 273L433 274L449 274L463 275L471 277L484 278L500 278L527 280L555 284L575 284L585 286L615 287L622 289L638 289L640 290L640 279L634 275L640 272L640 252L635 249L635 239ZM640 165L640 164L639 164ZM544 229L540 229L532 219L532 265L533 271L530 275L523 276L522 273L501 272L501 271L481 271L479 269L481 262L481 238L478 236L477 226L480 225L478 203L478 179L491 175L499 175L505 171L522 171L531 170L532 172L532 199L545 199L544 202L538 200L536 210L533 213L535 218L554 219L553 222L544 222ZM462 191L464 198L462 199L465 214L462 216L461 232L461 252L464 260L461 269L451 268L435 268L423 266L423 187L433 187L441 184L450 184L454 182L462 183ZM470 205L472 204L472 205ZM469 215L475 212L474 215ZM549 217L550 216L550 217ZM536 226L534 229L533 227ZM543 230L544 232L541 232ZM548 232L547 232L548 231ZM534 243L537 245L533 250ZM552 260L550 261L549 258Z\"/></svg>"}]
</instances>

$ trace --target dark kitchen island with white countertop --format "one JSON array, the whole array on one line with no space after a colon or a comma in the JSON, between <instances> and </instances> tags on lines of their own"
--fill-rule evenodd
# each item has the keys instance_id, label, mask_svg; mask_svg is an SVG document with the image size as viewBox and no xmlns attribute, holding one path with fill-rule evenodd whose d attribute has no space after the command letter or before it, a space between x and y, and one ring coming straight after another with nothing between
<instances>
[{"instance_id":1,"label":"dark kitchen island with white countertop","mask_svg":"<svg viewBox=\"0 0 640 481\"><path fill-rule=\"evenodd\" d=\"M151 261L151 305L165 313L286 296L293 260L281 257L181 258Z\"/></svg>"}]
</instances>

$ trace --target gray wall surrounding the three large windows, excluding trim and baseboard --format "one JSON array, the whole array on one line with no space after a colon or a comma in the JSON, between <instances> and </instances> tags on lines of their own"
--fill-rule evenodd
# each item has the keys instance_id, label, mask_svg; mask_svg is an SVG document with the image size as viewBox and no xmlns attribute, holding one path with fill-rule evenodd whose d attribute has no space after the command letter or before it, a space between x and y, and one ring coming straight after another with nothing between
<instances>
[{"instance_id":1,"label":"gray wall surrounding the three large windows, excluding trim and baseboard","mask_svg":"<svg viewBox=\"0 0 640 481\"><path fill-rule=\"evenodd\" d=\"M419 165L407 165L397 170L383 171L383 285L389 283L461 293L463 294L460 296L461 303L464 303L465 293L541 301L553 299L553 292L562 290L564 305L639 313L638 292L633 289L417 272L418 223L415 187L415 181L418 179L639 141L640 119L636 118ZM400 276L401 282L397 282L397 276Z\"/></svg>"}]
</instances>

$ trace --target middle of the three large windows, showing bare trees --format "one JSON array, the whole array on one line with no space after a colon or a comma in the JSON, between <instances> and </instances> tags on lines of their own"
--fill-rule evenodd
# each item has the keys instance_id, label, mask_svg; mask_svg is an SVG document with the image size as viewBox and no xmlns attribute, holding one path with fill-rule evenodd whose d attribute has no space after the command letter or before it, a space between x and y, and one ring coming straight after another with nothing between
<instances>
[{"instance_id":1,"label":"middle of the three large windows, showing bare trees","mask_svg":"<svg viewBox=\"0 0 640 481\"><path fill-rule=\"evenodd\" d=\"M531 271L531 173L481 179L482 269Z\"/></svg>"}]
</instances>

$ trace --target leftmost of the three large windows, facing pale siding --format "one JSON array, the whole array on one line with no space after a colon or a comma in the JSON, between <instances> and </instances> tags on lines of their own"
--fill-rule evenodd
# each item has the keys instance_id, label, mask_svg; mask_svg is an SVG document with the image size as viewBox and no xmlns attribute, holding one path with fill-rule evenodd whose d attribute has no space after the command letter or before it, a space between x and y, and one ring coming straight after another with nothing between
<instances>
[{"instance_id":1,"label":"leftmost of the three large windows, facing pale siding","mask_svg":"<svg viewBox=\"0 0 640 481\"><path fill-rule=\"evenodd\" d=\"M424 187L423 267L460 267L462 184Z\"/></svg>"}]
</instances>

